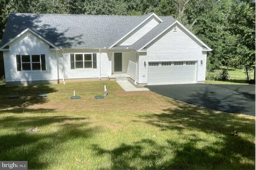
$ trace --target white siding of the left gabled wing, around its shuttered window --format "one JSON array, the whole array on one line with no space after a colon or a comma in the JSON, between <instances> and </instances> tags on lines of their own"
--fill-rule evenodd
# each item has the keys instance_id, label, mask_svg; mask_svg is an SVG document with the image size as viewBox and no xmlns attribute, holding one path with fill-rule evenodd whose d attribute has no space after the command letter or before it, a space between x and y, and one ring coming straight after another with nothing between
<instances>
[{"instance_id":1,"label":"white siding of the left gabled wing, around its shuttered window","mask_svg":"<svg viewBox=\"0 0 256 170\"><path fill-rule=\"evenodd\" d=\"M17 71L16 55L45 54L46 70ZM39 80L57 80L57 62L55 50L49 50L49 44L34 34L27 37L27 32L10 44L9 51L4 51L6 82L28 82Z\"/></svg>"}]
</instances>

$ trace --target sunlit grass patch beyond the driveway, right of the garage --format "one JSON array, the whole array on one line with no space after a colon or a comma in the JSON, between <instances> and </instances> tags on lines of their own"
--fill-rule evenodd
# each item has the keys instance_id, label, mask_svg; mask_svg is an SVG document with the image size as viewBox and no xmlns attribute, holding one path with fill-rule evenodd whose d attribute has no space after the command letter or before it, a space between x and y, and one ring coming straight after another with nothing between
<instances>
[{"instance_id":1,"label":"sunlit grass patch beyond the driveway, right of the garage","mask_svg":"<svg viewBox=\"0 0 256 170\"><path fill-rule=\"evenodd\" d=\"M213 73L206 72L206 83L208 84L247 84L246 74L243 69L228 67L228 74L230 75L229 81L214 81L207 80L209 74L218 74L222 70L226 70L226 66L219 66L219 70L215 70ZM250 79L254 79L254 73L250 72Z\"/></svg>"}]
</instances>

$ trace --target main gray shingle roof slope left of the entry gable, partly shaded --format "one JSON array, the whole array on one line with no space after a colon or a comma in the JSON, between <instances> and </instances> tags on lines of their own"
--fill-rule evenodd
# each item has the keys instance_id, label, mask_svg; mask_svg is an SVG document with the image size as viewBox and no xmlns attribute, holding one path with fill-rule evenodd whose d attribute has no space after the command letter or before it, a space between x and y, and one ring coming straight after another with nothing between
<instances>
[{"instance_id":1,"label":"main gray shingle roof slope left of the entry gable, partly shaded","mask_svg":"<svg viewBox=\"0 0 256 170\"><path fill-rule=\"evenodd\" d=\"M11 13L0 46L30 28L57 47L108 48L150 14L100 16Z\"/></svg>"}]
</instances>

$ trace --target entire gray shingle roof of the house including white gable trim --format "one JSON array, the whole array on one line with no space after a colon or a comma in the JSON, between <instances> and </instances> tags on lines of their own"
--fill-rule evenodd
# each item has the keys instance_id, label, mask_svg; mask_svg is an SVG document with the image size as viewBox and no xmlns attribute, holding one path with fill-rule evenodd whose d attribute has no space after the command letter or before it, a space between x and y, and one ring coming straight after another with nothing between
<instances>
[{"instance_id":1,"label":"entire gray shingle roof of the house including white gable trim","mask_svg":"<svg viewBox=\"0 0 256 170\"><path fill-rule=\"evenodd\" d=\"M64 14L14 14L9 15L0 50L30 31L55 49L59 48L124 48L115 47L127 38L149 18L155 17L160 23L134 44L126 46L136 51L143 49L162 35L174 24L180 25L190 36L202 45L203 51L211 51L185 26L170 16L158 17L154 13L141 16L64 15Z\"/></svg>"}]
</instances>

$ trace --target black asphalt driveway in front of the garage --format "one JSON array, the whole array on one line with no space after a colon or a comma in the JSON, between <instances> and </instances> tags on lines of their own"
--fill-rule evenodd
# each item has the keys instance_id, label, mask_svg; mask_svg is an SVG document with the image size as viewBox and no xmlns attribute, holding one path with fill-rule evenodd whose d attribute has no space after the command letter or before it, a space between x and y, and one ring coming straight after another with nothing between
<instances>
[{"instance_id":1,"label":"black asphalt driveway in front of the garage","mask_svg":"<svg viewBox=\"0 0 256 170\"><path fill-rule=\"evenodd\" d=\"M146 88L189 104L255 116L255 85L175 84Z\"/></svg>"}]
</instances>

